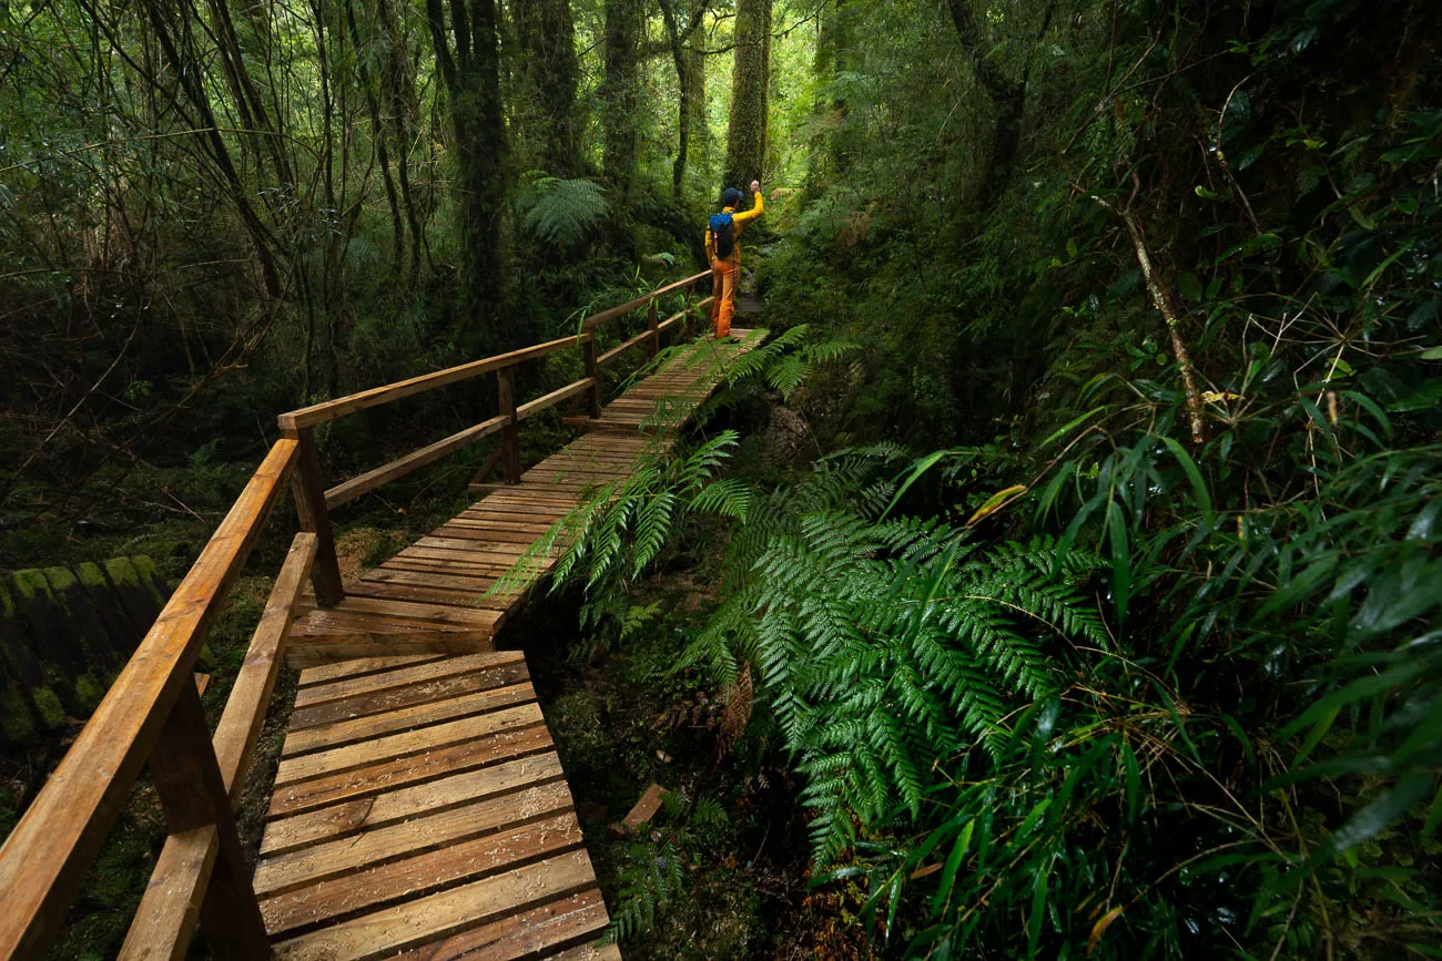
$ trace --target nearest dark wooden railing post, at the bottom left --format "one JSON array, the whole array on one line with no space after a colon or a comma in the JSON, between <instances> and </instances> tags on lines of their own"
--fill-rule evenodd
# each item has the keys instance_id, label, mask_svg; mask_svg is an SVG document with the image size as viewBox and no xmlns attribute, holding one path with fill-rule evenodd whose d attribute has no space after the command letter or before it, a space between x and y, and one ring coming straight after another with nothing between
<instances>
[{"instance_id":1,"label":"nearest dark wooden railing post, at the bottom left","mask_svg":"<svg viewBox=\"0 0 1442 961\"><path fill-rule=\"evenodd\" d=\"M172 834L215 828L219 841L211 883L200 903L200 931L225 960L270 958L270 939L245 866L231 798L205 723L200 694L189 674L150 752L150 774Z\"/></svg>"}]
</instances>

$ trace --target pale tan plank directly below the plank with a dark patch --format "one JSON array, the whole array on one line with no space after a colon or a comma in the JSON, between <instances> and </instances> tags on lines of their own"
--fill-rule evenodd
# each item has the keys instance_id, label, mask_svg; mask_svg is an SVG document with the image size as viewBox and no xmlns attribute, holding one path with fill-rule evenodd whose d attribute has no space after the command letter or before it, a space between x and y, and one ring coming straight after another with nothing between
<instances>
[{"instance_id":1,"label":"pale tan plank directly below the plank with a dark patch","mask_svg":"<svg viewBox=\"0 0 1442 961\"><path fill-rule=\"evenodd\" d=\"M280 895L327 877L362 870L368 864L492 834L502 827L554 817L570 808L571 792L565 781L551 781L516 794L474 801L399 824L360 831L352 837L322 841L261 859L255 866L255 893L267 898Z\"/></svg>"}]
</instances>

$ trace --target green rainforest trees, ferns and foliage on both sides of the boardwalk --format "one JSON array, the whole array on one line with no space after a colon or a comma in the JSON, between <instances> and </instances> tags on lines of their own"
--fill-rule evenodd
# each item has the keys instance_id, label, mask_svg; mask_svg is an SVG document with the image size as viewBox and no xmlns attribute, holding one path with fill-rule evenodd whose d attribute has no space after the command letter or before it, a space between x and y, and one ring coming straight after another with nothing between
<instances>
[{"instance_id":1,"label":"green rainforest trees, ferns and foliage on both sides of the boardwalk","mask_svg":"<svg viewBox=\"0 0 1442 961\"><path fill-rule=\"evenodd\" d=\"M1442 957L1439 49L1430 0L3 7L0 562L213 523L271 411L564 336L757 177L771 340L547 542L583 653L711 579L717 764L782 759L875 951Z\"/></svg>"}]
</instances>

